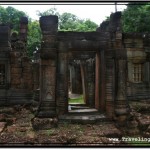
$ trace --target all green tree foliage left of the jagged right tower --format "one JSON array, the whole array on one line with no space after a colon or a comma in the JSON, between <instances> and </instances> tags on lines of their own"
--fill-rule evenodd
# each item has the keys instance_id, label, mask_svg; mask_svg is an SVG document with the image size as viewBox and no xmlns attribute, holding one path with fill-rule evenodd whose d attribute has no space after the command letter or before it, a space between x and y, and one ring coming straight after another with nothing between
<instances>
[{"instance_id":1,"label":"all green tree foliage left of the jagged right tower","mask_svg":"<svg viewBox=\"0 0 150 150\"><path fill-rule=\"evenodd\" d=\"M91 20L79 19L76 15L71 13L60 14L56 8L51 8L47 11L37 11L39 16L45 15L57 15L59 18L59 30L60 31L95 31L98 25ZM0 22L4 24L11 24L13 31L19 32L20 17L27 16L23 11L19 11L13 7L8 6L4 8L0 6ZM28 17L29 18L29 17ZM33 52L36 48L40 48L41 43L41 30L38 21L33 21L29 18L28 24L28 40L27 51L30 58L33 56Z\"/></svg>"}]
</instances>

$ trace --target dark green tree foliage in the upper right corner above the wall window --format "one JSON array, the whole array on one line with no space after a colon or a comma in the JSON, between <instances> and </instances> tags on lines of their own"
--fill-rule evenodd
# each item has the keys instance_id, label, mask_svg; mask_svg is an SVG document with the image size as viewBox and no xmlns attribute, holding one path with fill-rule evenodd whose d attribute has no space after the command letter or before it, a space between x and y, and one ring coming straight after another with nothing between
<instances>
[{"instance_id":1,"label":"dark green tree foliage in the upper right corner above the wall window","mask_svg":"<svg viewBox=\"0 0 150 150\"><path fill-rule=\"evenodd\" d=\"M150 31L150 2L130 2L123 11L122 25L124 32Z\"/></svg>"}]
</instances>

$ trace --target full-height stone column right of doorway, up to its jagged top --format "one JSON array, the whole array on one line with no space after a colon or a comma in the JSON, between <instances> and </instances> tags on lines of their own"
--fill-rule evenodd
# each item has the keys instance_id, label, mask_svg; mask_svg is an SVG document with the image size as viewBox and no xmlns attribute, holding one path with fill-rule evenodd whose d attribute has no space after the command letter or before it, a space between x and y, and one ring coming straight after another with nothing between
<instances>
[{"instance_id":1,"label":"full-height stone column right of doorway, up to its jagged top","mask_svg":"<svg viewBox=\"0 0 150 150\"><path fill-rule=\"evenodd\" d=\"M118 124L125 125L128 114L128 102L126 94L127 80L127 52L122 43L123 34L121 26L121 12L112 13L109 23L109 48L111 77L111 105L112 118L116 117ZM106 68L107 69L107 68ZM111 74L110 72L110 74ZM108 91L109 92L109 91Z\"/></svg>"}]
</instances>

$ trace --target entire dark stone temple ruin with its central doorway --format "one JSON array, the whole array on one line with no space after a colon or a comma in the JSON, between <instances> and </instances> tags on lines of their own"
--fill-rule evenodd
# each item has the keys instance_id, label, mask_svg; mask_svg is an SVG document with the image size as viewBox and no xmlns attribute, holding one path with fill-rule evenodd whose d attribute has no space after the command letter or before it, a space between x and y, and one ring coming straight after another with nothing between
<instances>
[{"instance_id":1,"label":"entire dark stone temple ruin with its central doorway","mask_svg":"<svg viewBox=\"0 0 150 150\"><path fill-rule=\"evenodd\" d=\"M83 93L86 106L125 120L129 101L150 100L150 38L123 33L120 20L116 12L95 32L60 32L57 16L43 16L40 58L34 61L26 54L27 18L20 19L19 36L1 25L0 105L36 99L37 118L59 118L69 113L70 88Z\"/></svg>"}]
</instances>

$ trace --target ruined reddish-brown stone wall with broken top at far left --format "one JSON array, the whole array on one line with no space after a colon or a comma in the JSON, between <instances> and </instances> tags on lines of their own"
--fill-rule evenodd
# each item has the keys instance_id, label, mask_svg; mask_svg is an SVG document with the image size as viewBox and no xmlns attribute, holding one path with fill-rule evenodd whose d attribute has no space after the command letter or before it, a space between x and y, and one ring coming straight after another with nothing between
<instances>
[{"instance_id":1,"label":"ruined reddish-brown stone wall with broken top at far left","mask_svg":"<svg viewBox=\"0 0 150 150\"><path fill-rule=\"evenodd\" d=\"M4 105L26 104L32 100L32 63L26 52L27 24L28 19L22 17L19 35L14 32L11 36L9 26L0 26L1 31L5 29L0 33L1 41L4 41L4 46L0 46L0 61L4 60L6 80L5 86L0 89L0 103Z\"/></svg>"}]
</instances>

